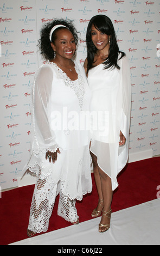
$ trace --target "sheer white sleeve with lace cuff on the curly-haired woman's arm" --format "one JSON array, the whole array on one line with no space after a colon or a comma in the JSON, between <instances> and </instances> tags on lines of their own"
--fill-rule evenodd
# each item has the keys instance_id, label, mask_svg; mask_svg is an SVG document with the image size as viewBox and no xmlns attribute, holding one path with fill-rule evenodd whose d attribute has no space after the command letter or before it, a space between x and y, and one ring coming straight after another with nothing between
<instances>
[{"instance_id":1,"label":"sheer white sleeve with lace cuff on the curly-haired woman's arm","mask_svg":"<svg viewBox=\"0 0 160 256\"><path fill-rule=\"evenodd\" d=\"M53 71L49 65L37 72L33 88L33 125L39 150L55 152L58 148L55 134L50 130L49 102L52 92Z\"/></svg>"}]
</instances>

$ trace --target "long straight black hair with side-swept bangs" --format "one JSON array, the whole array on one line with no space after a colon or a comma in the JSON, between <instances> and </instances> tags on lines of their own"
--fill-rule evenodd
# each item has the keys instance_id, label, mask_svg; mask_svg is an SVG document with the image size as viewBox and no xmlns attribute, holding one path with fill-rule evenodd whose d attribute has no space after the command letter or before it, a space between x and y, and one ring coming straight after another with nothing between
<instances>
[{"instance_id":1,"label":"long straight black hair with side-swept bangs","mask_svg":"<svg viewBox=\"0 0 160 256\"><path fill-rule=\"evenodd\" d=\"M112 21L109 17L105 15L96 15L92 17L92 19L89 21L88 27L87 27L87 35L86 35L86 44L87 44L87 73L89 69L92 69L94 67L94 54L97 52L97 48L94 46L92 42L92 25L98 31L103 32L107 35L110 35L110 49L108 52L108 57L106 58L104 64L104 69L110 69L110 68L117 68L120 69L118 62L118 55L121 53L120 58L123 58L125 56L124 52L119 51L119 47L117 44L117 36L114 31L114 27L112 24Z\"/></svg>"}]
</instances>

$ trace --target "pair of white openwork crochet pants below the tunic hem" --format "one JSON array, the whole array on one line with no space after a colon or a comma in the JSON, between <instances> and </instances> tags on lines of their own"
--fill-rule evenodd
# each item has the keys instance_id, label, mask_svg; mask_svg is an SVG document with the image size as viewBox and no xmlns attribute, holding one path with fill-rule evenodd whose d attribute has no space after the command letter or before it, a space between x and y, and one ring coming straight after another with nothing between
<instances>
[{"instance_id":1,"label":"pair of white openwork crochet pants below the tunic hem","mask_svg":"<svg viewBox=\"0 0 160 256\"><path fill-rule=\"evenodd\" d=\"M70 200L62 193L63 182L49 184L47 180L37 179L30 208L28 229L41 233L46 232L49 218L52 215L56 195L60 194L57 214L66 221L76 222L78 219L75 208L76 200Z\"/></svg>"}]
</instances>

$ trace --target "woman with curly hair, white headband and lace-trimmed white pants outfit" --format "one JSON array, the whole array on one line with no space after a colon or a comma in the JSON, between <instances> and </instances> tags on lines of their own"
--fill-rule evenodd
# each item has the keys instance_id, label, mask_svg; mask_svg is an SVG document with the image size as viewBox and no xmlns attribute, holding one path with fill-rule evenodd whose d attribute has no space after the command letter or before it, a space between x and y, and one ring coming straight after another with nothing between
<instances>
[{"instance_id":1,"label":"woman with curly hair, white headband and lace-trimmed white pants outfit","mask_svg":"<svg viewBox=\"0 0 160 256\"><path fill-rule=\"evenodd\" d=\"M34 136L28 168L37 180L28 236L47 231L57 194L57 214L78 224L76 199L92 191L89 134L78 120L89 109L91 92L84 68L72 60L77 42L76 30L66 20L54 20L41 30L39 47L47 62L37 71L33 86Z\"/></svg>"}]
</instances>

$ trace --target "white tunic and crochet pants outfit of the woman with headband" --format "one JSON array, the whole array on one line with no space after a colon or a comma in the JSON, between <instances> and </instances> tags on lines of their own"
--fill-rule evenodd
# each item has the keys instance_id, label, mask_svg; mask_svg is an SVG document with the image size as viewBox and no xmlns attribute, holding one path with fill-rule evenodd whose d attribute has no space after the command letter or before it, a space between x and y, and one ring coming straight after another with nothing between
<instances>
[{"instance_id":1,"label":"white tunic and crochet pants outfit of the woman with headband","mask_svg":"<svg viewBox=\"0 0 160 256\"><path fill-rule=\"evenodd\" d=\"M38 70L33 87L33 143L28 168L37 176L30 208L28 229L47 231L55 197L60 194L57 214L70 222L78 218L75 202L92 191L89 155L89 131L53 129L53 111L63 117L63 108L76 112L89 110L91 91L84 68L75 62L78 80L70 78L56 64L46 63ZM77 120L79 121L79 120ZM79 127L74 120L75 127ZM46 160L49 150L57 153L57 161Z\"/></svg>"}]
</instances>

